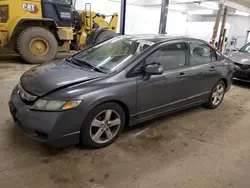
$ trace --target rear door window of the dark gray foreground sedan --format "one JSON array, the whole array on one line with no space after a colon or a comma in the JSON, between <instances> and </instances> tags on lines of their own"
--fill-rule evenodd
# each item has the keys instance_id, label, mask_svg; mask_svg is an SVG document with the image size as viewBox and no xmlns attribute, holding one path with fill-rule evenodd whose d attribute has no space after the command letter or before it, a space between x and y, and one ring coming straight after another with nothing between
<instances>
[{"instance_id":1,"label":"rear door window of the dark gray foreground sedan","mask_svg":"<svg viewBox=\"0 0 250 188\"><path fill-rule=\"evenodd\" d=\"M190 42L190 64L202 65L216 61L215 51L205 43Z\"/></svg>"}]
</instances>

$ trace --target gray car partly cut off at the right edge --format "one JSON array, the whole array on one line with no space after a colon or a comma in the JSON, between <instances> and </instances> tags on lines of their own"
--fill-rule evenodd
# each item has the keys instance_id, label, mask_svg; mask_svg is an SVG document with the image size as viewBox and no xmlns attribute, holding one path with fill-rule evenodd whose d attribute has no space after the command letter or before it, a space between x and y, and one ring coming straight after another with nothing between
<instances>
[{"instance_id":1,"label":"gray car partly cut off at the right edge","mask_svg":"<svg viewBox=\"0 0 250 188\"><path fill-rule=\"evenodd\" d=\"M235 64L234 79L250 82L250 43L246 44L238 52L233 52L230 58Z\"/></svg>"}]
</instances>

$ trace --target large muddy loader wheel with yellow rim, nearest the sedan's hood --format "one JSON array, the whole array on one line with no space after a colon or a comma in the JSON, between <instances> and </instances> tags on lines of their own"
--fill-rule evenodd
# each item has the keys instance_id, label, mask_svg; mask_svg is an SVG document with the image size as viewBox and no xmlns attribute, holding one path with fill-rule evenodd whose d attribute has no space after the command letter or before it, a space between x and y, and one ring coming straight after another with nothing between
<instances>
[{"instance_id":1,"label":"large muddy loader wheel with yellow rim, nearest the sedan's hood","mask_svg":"<svg viewBox=\"0 0 250 188\"><path fill-rule=\"evenodd\" d=\"M31 48L34 42L40 42L43 48ZM40 64L52 61L57 54L58 44L55 36L42 27L30 27L24 30L17 39L17 51L30 64ZM41 48L41 47L40 47ZM37 50L37 51L36 51Z\"/></svg>"}]
</instances>

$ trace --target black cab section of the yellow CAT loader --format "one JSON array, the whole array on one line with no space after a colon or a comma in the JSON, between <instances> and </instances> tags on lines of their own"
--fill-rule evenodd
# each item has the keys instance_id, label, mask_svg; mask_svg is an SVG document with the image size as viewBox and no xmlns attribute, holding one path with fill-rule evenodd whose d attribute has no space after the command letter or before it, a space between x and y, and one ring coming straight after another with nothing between
<instances>
[{"instance_id":1,"label":"black cab section of the yellow CAT loader","mask_svg":"<svg viewBox=\"0 0 250 188\"><path fill-rule=\"evenodd\" d=\"M75 0L42 0L41 2L43 18L53 19L59 27L75 27L81 23L80 16L74 9Z\"/></svg>"}]
</instances>

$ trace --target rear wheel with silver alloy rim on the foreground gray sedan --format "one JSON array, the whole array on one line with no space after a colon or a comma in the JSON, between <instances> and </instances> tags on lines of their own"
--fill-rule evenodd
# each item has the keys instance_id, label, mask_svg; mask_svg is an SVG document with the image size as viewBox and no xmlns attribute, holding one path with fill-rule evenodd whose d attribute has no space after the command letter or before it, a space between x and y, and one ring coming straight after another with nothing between
<instances>
[{"instance_id":1,"label":"rear wheel with silver alloy rim on the foreground gray sedan","mask_svg":"<svg viewBox=\"0 0 250 188\"><path fill-rule=\"evenodd\" d=\"M210 109L217 108L223 101L225 92L225 83L222 80L218 81L213 87L212 93L210 94L208 101L205 103L205 106Z\"/></svg>"}]
</instances>

